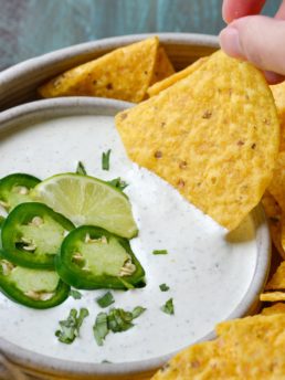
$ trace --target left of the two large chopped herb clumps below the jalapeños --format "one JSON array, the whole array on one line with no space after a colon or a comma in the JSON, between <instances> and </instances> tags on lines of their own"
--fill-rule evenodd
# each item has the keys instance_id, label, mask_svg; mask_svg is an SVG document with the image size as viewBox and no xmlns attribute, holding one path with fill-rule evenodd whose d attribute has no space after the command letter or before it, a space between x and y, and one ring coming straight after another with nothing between
<instances>
[{"instance_id":1,"label":"left of the two large chopped herb clumps below the jalape\u00f1os","mask_svg":"<svg viewBox=\"0 0 285 380\"><path fill-rule=\"evenodd\" d=\"M55 336L63 344L71 345L80 335L80 328L83 320L89 315L86 308L81 308L77 317L77 310L71 309L67 319L60 320L61 330L55 331Z\"/></svg>"}]
</instances>

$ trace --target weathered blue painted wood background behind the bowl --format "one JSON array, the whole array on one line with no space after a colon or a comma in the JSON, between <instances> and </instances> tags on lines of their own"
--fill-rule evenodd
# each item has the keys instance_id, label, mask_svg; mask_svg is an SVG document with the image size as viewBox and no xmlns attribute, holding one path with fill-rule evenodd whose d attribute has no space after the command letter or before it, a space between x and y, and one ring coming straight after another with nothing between
<instances>
[{"instance_id":1,"label":"weathered blue painted wood background behind the bowl","mask_svg":"<svg viewBox=\"0 0 285 380\"><path fill-rule=\"evenodd\" d=\"M268 1L264 13L274 14L279 2ZM0 70L112 35L218 34L224 25L221 4L222 0L0 0Z\"/></svg>"}]
</instances>

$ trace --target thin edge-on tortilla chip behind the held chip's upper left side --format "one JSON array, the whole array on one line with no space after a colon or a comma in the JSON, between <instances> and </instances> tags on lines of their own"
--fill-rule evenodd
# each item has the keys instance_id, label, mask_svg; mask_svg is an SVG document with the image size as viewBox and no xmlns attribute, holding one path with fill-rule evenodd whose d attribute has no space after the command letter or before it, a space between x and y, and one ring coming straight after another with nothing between
<instances>
[{"instance_id":1,"label":"thin edge-on tortilla chip behind the held chip's upper left side","mask_svg":"<svg viewBox=\"0 0 285 380\"><path fill-rule=\"evenodd\" d=\"M148 88L147 93L148 95L155 96L159 94L161 91L172 86L177 82L183 80L188 75L192 74L196 70L198 70L204 62L208 61L208 56L204 56L202 59L199 59L194 63L192 63L190 66L186 67L184 70L181 70L180 72L167 77L165 81L155 83L151 87Z\"/></svg>"}]
</instances>

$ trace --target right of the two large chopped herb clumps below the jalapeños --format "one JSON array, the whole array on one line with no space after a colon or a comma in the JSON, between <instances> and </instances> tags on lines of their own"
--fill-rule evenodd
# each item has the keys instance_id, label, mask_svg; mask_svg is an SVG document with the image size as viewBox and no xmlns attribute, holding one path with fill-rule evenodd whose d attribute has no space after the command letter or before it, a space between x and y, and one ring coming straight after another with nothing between
<instances>
[{"instance_id":1,"label":"right of the two large chopped herb clumps below the jalape\u00f1os","mask_svg":"<svg viewBox=\"0 0 285 380\"><path fill-rule=\"evenodd\" d=\"M133 312L126 312L122 308L112 308L109 314L99 313L93 326L93 332L97 345L103 346L104 339L109 331L123 332L134 327L133 320L138 318L145 310L145 307L137 306Z\"/></svg>"}]
</instances>

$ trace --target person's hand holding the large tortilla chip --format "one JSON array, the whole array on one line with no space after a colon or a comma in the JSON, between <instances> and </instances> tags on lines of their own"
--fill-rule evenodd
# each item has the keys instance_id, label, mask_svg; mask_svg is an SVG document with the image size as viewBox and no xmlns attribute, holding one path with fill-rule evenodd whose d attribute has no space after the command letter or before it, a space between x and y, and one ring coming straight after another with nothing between
<instances>
[{"instance_id":1,"label":"person's hand holding the large tortilla chip","mask_svg":"<svg viewBox=\"0 0 285 380\"><path fill-rule=\"evenodd\" d=\"M223 0L228 27L220 33L222 50L265 72L270 83L285 76L285 0L274 18L260 15L266 0Z\"/></svg>"}]
</instances>

